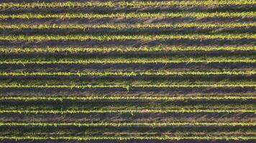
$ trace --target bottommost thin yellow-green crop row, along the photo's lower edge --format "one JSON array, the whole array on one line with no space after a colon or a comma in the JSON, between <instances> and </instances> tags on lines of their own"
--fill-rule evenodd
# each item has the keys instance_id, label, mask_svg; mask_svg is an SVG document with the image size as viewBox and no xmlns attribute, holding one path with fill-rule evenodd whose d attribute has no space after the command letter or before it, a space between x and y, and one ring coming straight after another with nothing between
<instances>
[{"instance_id":1,"label":"bottommost thin yellow-green crop row, along the photo's lower edge","mask_svg":"<svg viewBox=\"0 0 256 143\"><path fill-rule=\"evenodd\" d=\"M248 139L256 139L253 136L221 136L221 137L201 137L201 136L193 136L193 137L171 137L171 136L151 136L151 137L109 137L109 136L99 136L99 137L77 137L77 136L58 136L58 137L40 137L40 136L0 136L0 139L14 139L14 140L25 140L25 139L32 139L32 140L43 140L43 139L50 139L50 140L57 140L57 139L68 139L68 140L83 140L83 141L90 141L90 140L130 140L130 139L157 139L157 140L180 140L180 139L206 139L206 140L248 140Z\"/></svg>"}]
</instances>

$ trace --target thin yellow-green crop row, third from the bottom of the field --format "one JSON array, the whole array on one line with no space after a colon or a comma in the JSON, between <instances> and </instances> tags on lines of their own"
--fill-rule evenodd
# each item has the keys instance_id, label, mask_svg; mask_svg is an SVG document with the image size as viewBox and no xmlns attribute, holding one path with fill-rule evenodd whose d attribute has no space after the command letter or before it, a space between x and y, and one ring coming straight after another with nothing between
<instances>
[{"instance_id":1,"label":"thin yellow-green crop row, third from the bottom of the field","mask_svg":"<svg viewBox=\"0 0 256 143\"><path fill-rule=\"evenodd\" d=\"M0 110L0 113L19 113L19 114L88 114L88 113L256 113L256 109L65 109L65 110L40 110L40 109L7 109Z\"/></svg>"}]
</instances>

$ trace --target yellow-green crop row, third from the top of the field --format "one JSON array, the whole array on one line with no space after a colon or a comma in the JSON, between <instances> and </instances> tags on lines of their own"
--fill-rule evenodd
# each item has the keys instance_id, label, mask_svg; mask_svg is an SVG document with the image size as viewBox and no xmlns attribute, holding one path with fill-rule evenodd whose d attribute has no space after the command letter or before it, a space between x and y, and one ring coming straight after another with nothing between
<instances>
[{"instance_id":1,"label":"yellow-green crop row, third from the top of the field","mask_svg":"<svg viewBox=\"0 0 256 143\"><path fill-rule=\"evenodd\" d=\"M224 24L1 24L0 29L160 29L160 28L237 28L254 27L256 23Z\"/></svg>"}]
</instances>

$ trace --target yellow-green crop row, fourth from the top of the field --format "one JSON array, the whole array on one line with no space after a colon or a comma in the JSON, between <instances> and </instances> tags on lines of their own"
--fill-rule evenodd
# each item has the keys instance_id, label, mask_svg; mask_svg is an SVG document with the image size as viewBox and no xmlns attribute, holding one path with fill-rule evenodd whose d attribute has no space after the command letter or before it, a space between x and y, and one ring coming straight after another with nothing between
<instances>
[{"instance_id":1,"label":"yellow-green crop row, fourth from the top of the field","mask_svg":"<svg viewBox=\"0 0 256 143\"><path fill-rule=\"evenodd\" d=\"M156 34L156 35L0 35L0 40L7 41L45 41L45 40L168 40L168 39L256 39L256 34Z\"/></svg>"}]
</instances>

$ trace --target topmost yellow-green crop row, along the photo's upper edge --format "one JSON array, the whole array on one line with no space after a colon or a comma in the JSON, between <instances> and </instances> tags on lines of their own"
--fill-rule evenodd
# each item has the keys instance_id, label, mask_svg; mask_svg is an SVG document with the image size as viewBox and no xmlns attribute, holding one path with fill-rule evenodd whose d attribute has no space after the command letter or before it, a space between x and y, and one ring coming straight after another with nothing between
<instances>
[{"instance_id":1,"label":"topmost yellow-green crop row, along the photo's upper edge","mask_svg":"<svg viewBox=\"0 0 256 143\"><path fill-rule=\"evenodd\" d=\"M32 3L1 3L2 8L56 8L56 7L88 7L88 6L129 6L129 7L142 7L142 6L209 6L209 5L246 5L256 4L255 1L248 0L235 0L235 1L224 1L224 0L204 0L204 1L119 1L119 2L99 2L99 1L86 1L86 2L32 2Z\"/></svg>"}]
</instances>

